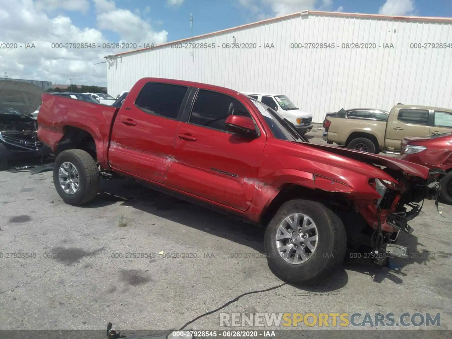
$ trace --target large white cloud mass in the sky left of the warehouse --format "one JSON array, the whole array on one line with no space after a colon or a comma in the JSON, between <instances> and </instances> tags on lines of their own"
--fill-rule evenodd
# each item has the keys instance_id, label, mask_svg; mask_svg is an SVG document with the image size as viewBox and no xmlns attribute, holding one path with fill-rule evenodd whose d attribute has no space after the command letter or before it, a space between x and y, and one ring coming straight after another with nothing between
<instances>
[{"instance_id":1,"label":"large white cloud mass in the sky left of the warehouse","mask_svg":"<svg viewBox=\"0 0 452 339\"><path fill-rule=\"evenodd\" d=\"M46 0L47 4L52 1ZM72 1L72 0L71 0ZM64 8L65 1L59 1L59 9L82 10L77 6ZM127 51L127 49L103 49L105 38L103 31L116 32L121 42L164 43L165 30L155 31L151 24L129 10L117 8L114 1L94 0L97 12L97 27L77 27L71 18L52 14L41 6L45 1L38 0L1 0L0 41L35 45L35 49L2 50L0 53L0 76L5 72L9 78L48 80L57 84L72 83L83 85L106 85L106 64L93 65L104 61L104 56ZM41 4L39 4L41 3ZM56 2L55 2L56 4ZM64 5L66 6L66 5ZM78 9L76 9L78 8ZM91 43L96 48L55 48L52 44ZM52 48L54 47L54 48ZM138 47L139 48L139 47Z\"/></svg>"}]
</instances>

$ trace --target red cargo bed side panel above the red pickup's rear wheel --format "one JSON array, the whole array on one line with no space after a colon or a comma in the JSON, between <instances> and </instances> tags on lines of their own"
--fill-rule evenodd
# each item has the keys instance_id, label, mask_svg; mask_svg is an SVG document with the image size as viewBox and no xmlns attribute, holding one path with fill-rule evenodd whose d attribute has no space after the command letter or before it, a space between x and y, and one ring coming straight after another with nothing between
<instances>
[{"instance_id":1,"label":"red cargo bed side panel above the red pickup's rear wheel","mask_svg":"<svg viewBox=\"0 0 452 339\"><path fill-rule=\"evenodd\" d=\"M80 128L94 138L99 163L106 163L110 130L118 108L46 93L41 97L38 139L55 152L65 127Z\"/></svg>"}]
</instances>

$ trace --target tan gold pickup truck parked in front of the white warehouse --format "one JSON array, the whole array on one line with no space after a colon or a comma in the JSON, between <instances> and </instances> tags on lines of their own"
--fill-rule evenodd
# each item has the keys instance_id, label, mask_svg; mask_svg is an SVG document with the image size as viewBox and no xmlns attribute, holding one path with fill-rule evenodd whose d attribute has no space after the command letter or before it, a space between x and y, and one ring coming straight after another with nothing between
<instances>
[{"instance_id":1,"label":"tan gold pickup truck parked in front of the white warehouse","mask_svg":"<svg viewBox=\"0 0 452 339\"><path fill-rule=\"evenodd\" d=\"M341 109L327 117L323 140L356 151L400 153L404 137L452 131L452 109L397 104L391 112L371 108Z\"/></svg>"}]
</instances>

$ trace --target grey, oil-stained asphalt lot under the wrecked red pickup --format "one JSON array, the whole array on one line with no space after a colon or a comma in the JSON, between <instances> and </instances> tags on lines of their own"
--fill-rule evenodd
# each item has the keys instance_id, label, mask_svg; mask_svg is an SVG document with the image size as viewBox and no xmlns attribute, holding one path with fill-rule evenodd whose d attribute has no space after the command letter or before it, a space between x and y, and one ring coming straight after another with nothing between
<instances>
[{"instance_id":1,"label":"grey, oil-stained asphalt lot under the wrecked red pickup","mask_svg":"<svg viewBox=\"0 0 452 339\"><path fill-rule=\"evenodd\" d=\"M311 142L324 143L321 132L310 132ZM282 283L261 255L263 229L129 179L104 180L98 199L72 207L56 193L52 172L3 171L0 196L0 329L96 330L108 321L179 329L243 293ZM400 234L410 258L394 260L395 268L347 259L322 286L286 284L221 312L429 312L452 330L452 206L440 203L439 211L425 201L410 223L414 232ZM167 259L161 251L190 258ZM30 257L6 257L19 252ZM219 329L219 313L188 328Z\"/></svg>"}]
</instances>

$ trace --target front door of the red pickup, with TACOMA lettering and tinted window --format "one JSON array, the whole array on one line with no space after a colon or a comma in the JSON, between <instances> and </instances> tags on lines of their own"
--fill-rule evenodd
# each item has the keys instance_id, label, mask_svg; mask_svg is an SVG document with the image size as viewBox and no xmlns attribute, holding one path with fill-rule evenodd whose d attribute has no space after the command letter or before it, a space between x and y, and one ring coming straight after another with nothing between
<instances>
[{"instance_id":1,"label":"front door of the red pickup, with TACOMA lettering and tinted window","mask_svg":"<svg viewBox=\"0 0 452 339\"><path fill-rule=\"evenodd\" d=\"M252 118L238 99L198 89L177 131L167 185L246 211L256 189L265 135L248 139L227 132L230 114Z\"/></svg>"}]
</instances>

